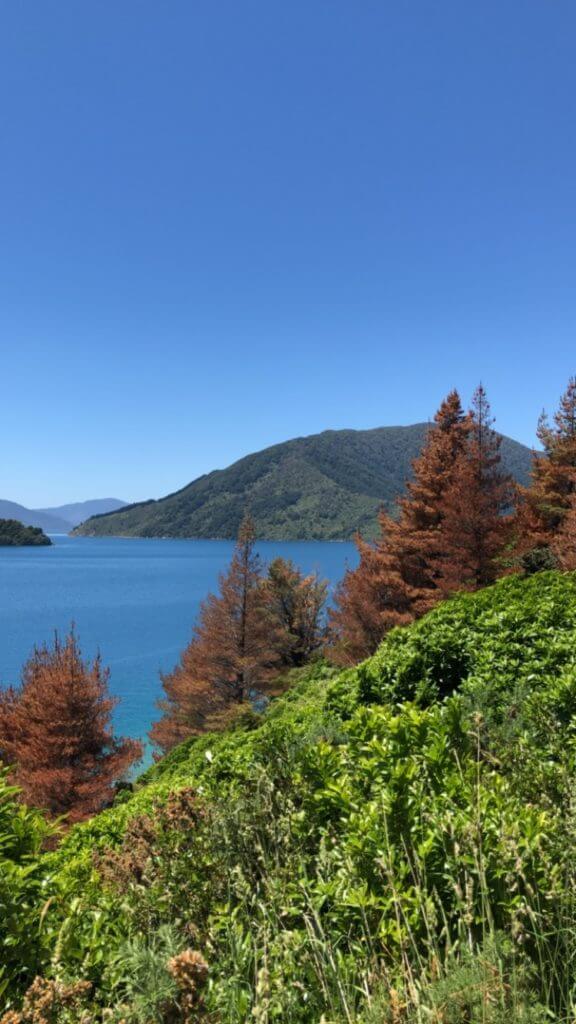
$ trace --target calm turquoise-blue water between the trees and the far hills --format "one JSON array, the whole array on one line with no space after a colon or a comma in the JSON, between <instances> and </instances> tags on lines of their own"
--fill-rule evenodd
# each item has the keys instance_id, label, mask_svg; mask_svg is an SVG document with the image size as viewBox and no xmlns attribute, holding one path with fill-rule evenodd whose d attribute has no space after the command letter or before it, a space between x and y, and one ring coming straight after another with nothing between
<instances>
[{"instance_id":1,"label":"calm turquoise-blue water between the trees and the far hills","mask_svg":"<svg viewBox=\"0 0 576 1024\"><path fill-rule=\"evenodd\" d=\"M0 686L16 683L35 644L72 622L84 654L100 651L120 703L115 725L145 737L156 717L160 671L188 643L198 606L230 561L228 541L52 538L52 548L0 548ZM333 588L352 544L261 542L270 561L292 558Z\"/></svg>"}]
</instances>

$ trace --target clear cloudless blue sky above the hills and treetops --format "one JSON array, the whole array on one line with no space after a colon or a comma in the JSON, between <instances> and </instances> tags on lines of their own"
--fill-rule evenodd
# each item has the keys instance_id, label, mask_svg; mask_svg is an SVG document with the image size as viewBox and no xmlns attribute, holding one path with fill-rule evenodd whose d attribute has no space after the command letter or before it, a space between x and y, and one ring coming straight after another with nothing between
<instances>
[{"instance_id":1,"label":"clear cloudless blue sky above the hills and treetops","mask_svg":"<svg viewBox=\"0 0 576 1024\"><path fill-rule=\"evenodd\" d=\"M12 0L0 498L158 497L576 371L574 0Z\"/></svg>"}]
</instances>

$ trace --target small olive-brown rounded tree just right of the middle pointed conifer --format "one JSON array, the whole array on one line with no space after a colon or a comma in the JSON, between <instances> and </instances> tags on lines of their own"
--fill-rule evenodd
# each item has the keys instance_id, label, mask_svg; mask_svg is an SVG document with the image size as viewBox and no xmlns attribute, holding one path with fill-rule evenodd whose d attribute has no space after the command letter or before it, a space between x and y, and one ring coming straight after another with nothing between
<instances>
[{"instance_id":1,"label":"small olive-brown rounded tree just right of the middle pointed conifer","mask_svg":"<svg viewBox=\"0 0 576 1024\"><path fill-rule=\"evenodd\" d=\"M304 575L289 559L276 558L269 566L264 591L282 664L286 668L305 665L326 639L328 585L318 575Z\"/></svg>"}]
</instances>

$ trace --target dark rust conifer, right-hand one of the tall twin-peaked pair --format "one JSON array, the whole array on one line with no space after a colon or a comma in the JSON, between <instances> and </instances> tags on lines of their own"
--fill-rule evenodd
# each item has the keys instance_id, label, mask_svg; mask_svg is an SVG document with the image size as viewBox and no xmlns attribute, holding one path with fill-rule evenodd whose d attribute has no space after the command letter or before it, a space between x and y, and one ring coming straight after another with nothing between
<instances>
[{"instance_id":1,"label":"dark rust conifer, right-hand one of the tall twin-peaked pair","mask_svg":"<svg viewBox=\"0 0 576 1024\"><path fill-rule=\"evenodd\" d=\"M493 429L484 387L477 388L471 432L446 480L440 503L436 583L447 596L494 583L511 543L516 489L501 468L501 437Z\"/></svg>"}]
</instances>

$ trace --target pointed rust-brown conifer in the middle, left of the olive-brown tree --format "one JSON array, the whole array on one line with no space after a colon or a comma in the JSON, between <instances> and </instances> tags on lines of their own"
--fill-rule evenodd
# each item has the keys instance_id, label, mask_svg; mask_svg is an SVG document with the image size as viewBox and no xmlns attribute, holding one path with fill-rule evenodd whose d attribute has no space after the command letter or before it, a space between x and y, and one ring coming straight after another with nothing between
<instances>
[{"instance_id":1,"label":"pointed rust-brown conifer in the middle, left of the olive-brown tree","mask_svg":"<svg viewBox=\"0 0 576 1024\"><path fill-rule=\"evenodd\" d=\"M166 696L150 733L153 743L167 752L188 736L221 728L264 694L281 667L277 630L254 552L254 526L246 519L219 593L204 601L179 664L162 677Z\"/></svg>"}]
</instances>

